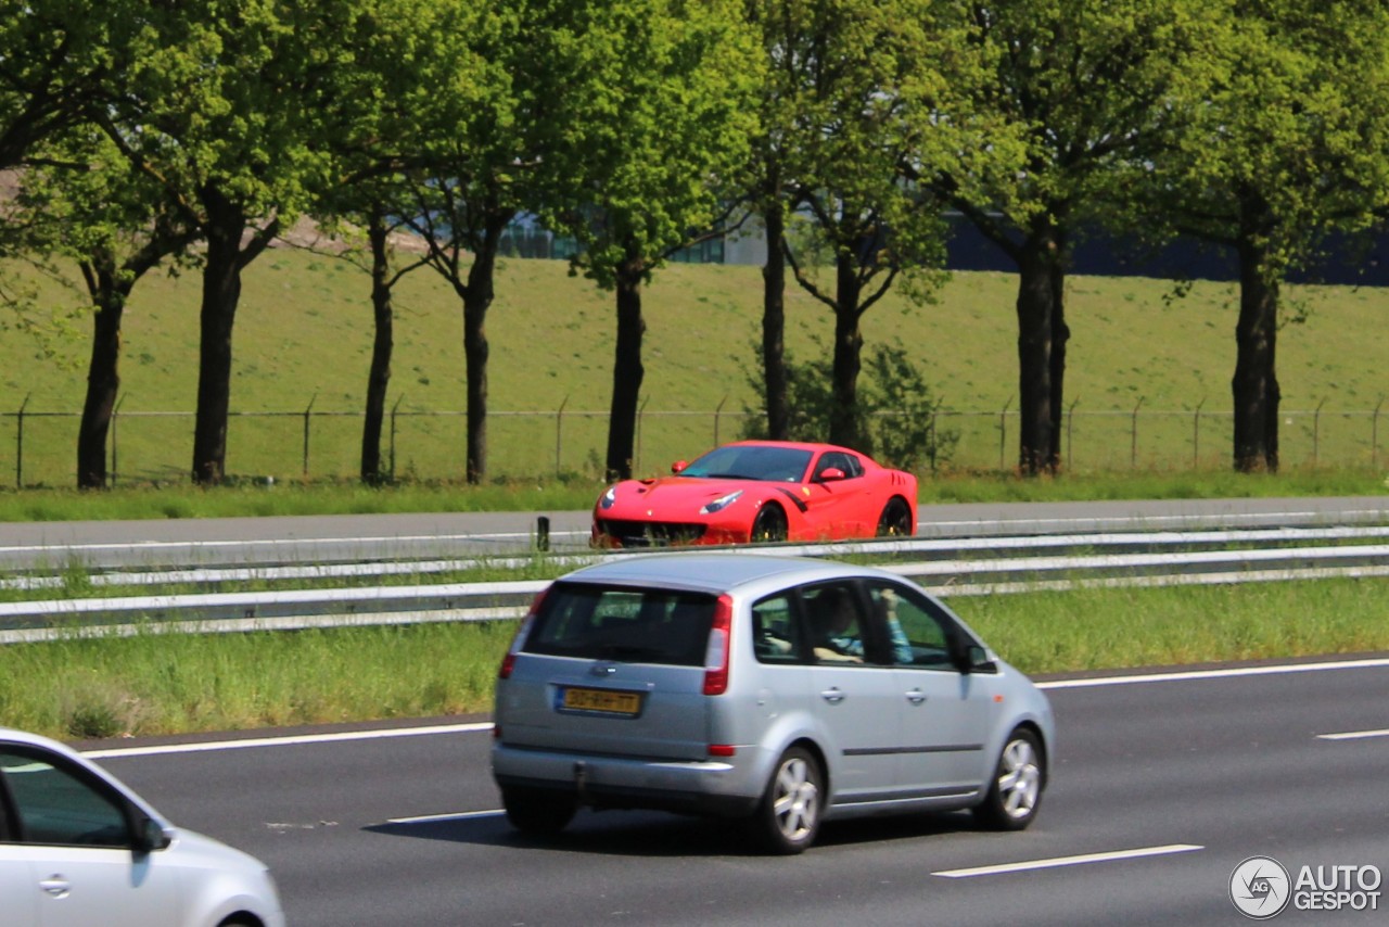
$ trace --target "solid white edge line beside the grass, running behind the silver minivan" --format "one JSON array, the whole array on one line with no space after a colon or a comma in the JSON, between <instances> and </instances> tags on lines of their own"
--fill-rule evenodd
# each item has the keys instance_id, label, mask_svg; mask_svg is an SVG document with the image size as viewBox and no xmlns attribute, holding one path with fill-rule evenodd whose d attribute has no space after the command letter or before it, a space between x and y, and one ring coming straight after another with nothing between
<instances>
[{"instance_id":1,"label":"solid white edge line beside the grass, running behind the silver minivan","mask_svg":"<svg viewBox=\"0 0 1389 927\"><path fill-rule=\"evenodd\" d=\"M1136 682L1175 682L1188 680L1218 680L1242 675L1272 675L1278 673L1313 673L1318 670L1360 670L1389 667L1389 657L1371 660L1339 660L1329 663L1288 663L1275 666L1249 666L1229 670L1192 670L1186 673L1149 673L1143 675L1108 675L1093 680L1051 680L1038 682L1040 689L1078 689L1103 685L1132 685ZM342 731L333 734L306 734L299 737L261 737L240 741L208 741L206 744L165 744L163 746L131 746L107 750L89 750L92 759L119 756L153 756L158 753L201 753L208 750L236 750L250 746L297 746L301 744L324 744L335 741L371 741L389 737L418 737L425 734L458 734L490 731L490 721L471 724L438 724L431 727L401 727L378 731Z\"/></svg>"}]
</instances>

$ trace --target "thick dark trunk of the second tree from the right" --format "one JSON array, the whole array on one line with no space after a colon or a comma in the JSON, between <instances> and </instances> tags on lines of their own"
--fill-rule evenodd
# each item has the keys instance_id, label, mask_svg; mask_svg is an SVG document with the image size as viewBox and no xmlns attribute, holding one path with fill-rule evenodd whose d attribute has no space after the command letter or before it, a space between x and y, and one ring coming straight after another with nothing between
<instances>
[{"instance_id":1,"label":"thick dark trunk of the second tree from the right","mask_svg":"<svg viewBox=\"0 0 1389 927\"><path fill-rule=\"evenodd\" d=\"M1050 227L1033 229L1018 256L1018 467L1033 477L1050 470L1054 395L1051 321L1054 239Z\"/></svg>"}]
</instances>

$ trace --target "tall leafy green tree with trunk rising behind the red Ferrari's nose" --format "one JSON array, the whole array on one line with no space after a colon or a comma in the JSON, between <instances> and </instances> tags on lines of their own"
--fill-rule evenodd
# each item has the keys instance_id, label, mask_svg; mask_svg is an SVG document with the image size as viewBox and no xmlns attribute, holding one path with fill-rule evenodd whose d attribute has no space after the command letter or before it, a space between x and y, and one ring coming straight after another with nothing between
<instances>
[{"instance_id":1,"label":"tall leafy green tree with trunk rising behind the red Ferrari's nose","mask_svg":"<svg viewBox=\"0 0 1389 927\"><path fill-rule=\"evenodd\" d=\"M557 47L567 79L543 217L617 296L608 478L632 474L644 370L642 285L718 225L740 189L760 81L735 0L593 3Z\"/></svg>"}]
</instances>

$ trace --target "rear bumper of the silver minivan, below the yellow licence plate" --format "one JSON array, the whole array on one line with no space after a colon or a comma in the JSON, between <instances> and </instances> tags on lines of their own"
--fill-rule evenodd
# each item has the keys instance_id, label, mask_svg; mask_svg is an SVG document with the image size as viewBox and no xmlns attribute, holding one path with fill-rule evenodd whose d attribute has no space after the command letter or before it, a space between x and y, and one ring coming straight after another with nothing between
<instances>
[{"instance_id":1,"label":"rear bumper of the silver minivan, below the yellow licence plate","mask_svg":"<svg viewBox=\"0 0 1389 927\"><path fill-rule=\"evenodd\" d=\"M492 748L492 774L503 789L546 789L572 795L592 807L650 807L718 817L746 817L757 809L764 782L753 766L592 756L506 744Z\"/></svg>"}]
</instances>

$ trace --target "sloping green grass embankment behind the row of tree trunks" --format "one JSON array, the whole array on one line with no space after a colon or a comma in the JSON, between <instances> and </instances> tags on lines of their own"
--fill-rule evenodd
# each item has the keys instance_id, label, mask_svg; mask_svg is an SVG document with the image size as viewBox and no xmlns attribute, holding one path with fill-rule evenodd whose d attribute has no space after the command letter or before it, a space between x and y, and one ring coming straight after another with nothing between
<instances>
[{"instance_id":1,"label":"sloping green grass embankment behind the row of tree trunks","mask_svg":"<svg viewBox=\"0 0 1389 927\"><path fill-rule=\"evenodd\" d=\"M132 296L117 436L124 482L186 481L199 285L196 274L151 275ZM1071 473L1228 466L1236 290L1200 282L1185 299L1170 293L1168 284L1153 279L1070 281L1065 402L1075 417L1064 450ZM1382 468L1389 410L1382 421L1372 413L1389 381L1374 332L1389 318L1389 290L1289 286L1286 293L1310 315L1279 336L1285 466ZM232 411L239 414L229 423L229 473L281 482L304 477L303 413L310 407L307 475L356 473L371 350L368 296L367 275L344 261L275 250L250 265L235 334ZM958 413L946 424L961 432L958 464L971 471L1007 470L1017 457L1015 297L1014 275L963 272L933 304L911 306L895 293L864 315L867 342L907 346L938 397ZM49 286L46 304L71 309L79 300ZM656 275L644 295L639 473L661 471L738 434L754 395L749 374L757 368L760 307L756 267L678 264ZM417 272L401 285L397 311L388 403L401 413L397 477L456 479L463 418L432 413L464 406L458 302L442 279ZM788 320L793 356L826 350L831 314L795 286ZM503 261L488 322L490 474L546 482L599 477L614 327L613 296L569 277L564 263ZM0 481L14 485L18 475L14 413L28 402L25 485L72 485L86 329L79 320L74 335L50 341L51 360L29 335L0 332ZM153 414L168 411L183 414Z\"/></svg>"}]
</instances>

